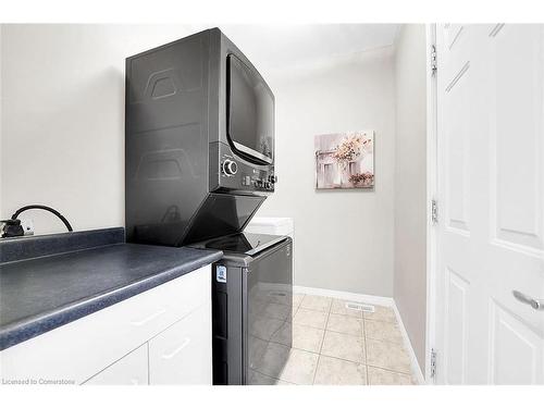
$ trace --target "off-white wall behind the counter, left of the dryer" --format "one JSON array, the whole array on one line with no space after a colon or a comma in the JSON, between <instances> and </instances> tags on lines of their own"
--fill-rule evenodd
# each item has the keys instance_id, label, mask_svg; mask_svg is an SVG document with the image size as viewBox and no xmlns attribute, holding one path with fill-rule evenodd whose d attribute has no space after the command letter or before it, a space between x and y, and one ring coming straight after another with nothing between
<instances>
[{"instance_id":1,"label":"off-white wall behind the counter, left of the dryer","mask_svg":"<svg viewBox=\"0 0 544 408\"><path fill-rule=\"evenodd\" d=\"M0 217L52 206L74 230L124 224L124 59L181 25L4 25ZM28 211L37 233L64 231Z\"/></svg>"}]
</instances>

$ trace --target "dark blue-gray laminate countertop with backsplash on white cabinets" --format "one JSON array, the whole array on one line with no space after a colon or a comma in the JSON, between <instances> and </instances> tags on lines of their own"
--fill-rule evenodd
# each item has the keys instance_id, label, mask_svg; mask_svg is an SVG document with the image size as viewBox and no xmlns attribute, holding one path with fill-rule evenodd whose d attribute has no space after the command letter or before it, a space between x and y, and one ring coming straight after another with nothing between
<instances>
[{"instance_id":1,"label":"dark blue-gray laminate countertop with backsplash on white cabinets","mask_svg":"<svg viewBox=\"0 0 544 408\"><path fill-rule=\"evenodd\" d=\"M112 230L102 231L111 235ZM0 263L0 350L215 262L223 255L218 250L111 243L111 239L106 245L100 245L103 243L99 239L92 245L100 246L82 248L79 238L88 236L76 234L81 234L79 247L74 251L61 250L62 245L54 242L55 251L62 254L27 258L33 251L17 248L17 252L25 252L26 259ZM61 235L69 234L51 237L58 239ZM44 237L20 238L16 244L25 239L24 244L39 247L41 252L48 247L42 243ZM7 248L2 244L0 250ZM8 244L13 246L13 242Z\"/></svg>"}]
</instances>

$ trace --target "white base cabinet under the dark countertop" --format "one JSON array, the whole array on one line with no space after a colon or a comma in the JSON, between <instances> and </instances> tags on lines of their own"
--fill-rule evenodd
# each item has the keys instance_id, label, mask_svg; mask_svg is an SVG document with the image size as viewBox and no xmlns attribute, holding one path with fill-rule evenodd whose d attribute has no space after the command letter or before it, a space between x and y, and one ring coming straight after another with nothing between
<instances>
[{"instance_id":1,"label":"white base cabinet under the dark countertop","mask_svg":"<svg viewBox=\"0 0 544 408\"><path fill-rule=\"evenodd\" d=\"M203 381L202 375L202 372L211 372L210 265L0 351L0 381L65 379L74 384L116 384L131 382L133 379L127 378L126 372L134 368L135 380L145 379L147 383L148 375L141 374L141 363L137 360L141 361L146 353L146 364L149 361L148 342L160 345L163 344L161 338L163 342L166 342L164 338L177 338L168 334L170 330L183 332L178 334L182 339L189 336L191 343L187 349L200 356L198 361L180 359L185 355L180 350L170 358L182 366L190 366L184 368L186 374L178 374L176 382L211 384L211 374L208 381ZM164 343L163 347L169 344ZM132 355L131 351L138 353ZM163 368L169 367L166 362L159 366L161 369L157 373L166 372ZM165 375L160 374L158 382L168 382Z\"/></svg>"}]
</instances>

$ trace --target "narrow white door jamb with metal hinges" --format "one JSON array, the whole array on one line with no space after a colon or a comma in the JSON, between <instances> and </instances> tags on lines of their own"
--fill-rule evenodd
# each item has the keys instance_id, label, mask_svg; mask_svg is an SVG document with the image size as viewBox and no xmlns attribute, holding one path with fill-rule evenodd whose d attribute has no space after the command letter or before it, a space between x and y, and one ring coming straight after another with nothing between
<instances>
[{"instance_id":1,"label":"narrow white door jamb with metal hinges","mask_svg":"<svg viewBox=\"0 0 544 408\"><path fill-rule=\"evenodd\" d=\"M431 351L436 335L436 273L437 227L433 223L432 200L437 198L437 75L432 70L432 47L436 47L436 24L425 25L426 34L426 331L425 331L425 383L434 384L431 378ZM440 58L440 55L438 55ZM438 203L440 205L440 203ZM440 211L440 206L438 206ZM438 212L440 215L440 212Z\"/></svg>"}]
</instances>

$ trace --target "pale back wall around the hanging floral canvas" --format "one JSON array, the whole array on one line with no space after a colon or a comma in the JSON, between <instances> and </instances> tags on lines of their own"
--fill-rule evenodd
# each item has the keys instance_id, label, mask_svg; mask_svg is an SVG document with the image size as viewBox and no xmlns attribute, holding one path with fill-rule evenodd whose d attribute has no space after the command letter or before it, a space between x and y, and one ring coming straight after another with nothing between
<instances>
[{"instance_id":1,"label":"pale back wall around the hanging floral canvas","mask_svg":"<svg viewBox=\"0 0 544 408\"><path fill-rule=\"evenodd\" d=\"M269 77L276 98L276 191L259 215L295 221L295 284L393 295L392 48ZM313 136L375 131L374 190L316 190Z\"/></svg>"}]
</instances>

